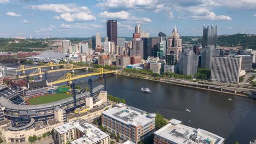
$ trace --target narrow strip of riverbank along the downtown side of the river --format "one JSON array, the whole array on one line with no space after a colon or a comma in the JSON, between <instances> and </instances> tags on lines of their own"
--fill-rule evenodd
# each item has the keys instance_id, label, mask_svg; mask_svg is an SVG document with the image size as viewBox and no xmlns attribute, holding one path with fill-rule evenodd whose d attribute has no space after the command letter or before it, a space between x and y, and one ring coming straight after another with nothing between
<instances>
[{"instance_id":1,"label":"narrow strip of riverbank along the downtown side of the river","mask_svg":"<svg viewBox=\"0 0 256 144\"><path fill-rule=\"evenodd\" d=\"M202 87L194 87L194 86L188 86L188 85L182 85L182 84L179 84L179 83L173 83L171 81L167 81L167 80L161 80L159 78L159 80L156 80L158 77L153 77L152 79L150 79L150 76L132 76L132 75L128 75L128 74L123 74L123 73L118 73L118 75L122 75L122 76L128 76L128 77L134 77L134 78L138 78L138 79L144 79L144 80L150 80L150 81L156 81L156 82L164 82L164 83L169 83L169 84L172 84L172 85L176 85L176 86L182 86L182 87L190 87L190 88L196 88L196 89L202 89L202 90L206 90L206 91L212 91L212 92L219 92L219 93L226 93L226 94L232 94L232 95L238 95L238 96L241 96L241 97L248 97L248 95L243 95L243 94L238 94L238 93L231 93L231 92L223 92L223 91L217 91L217 90L214 90L214 89L208 89L208 88L202 88ZM185 83L185 81L183 81ZM188 82L187 82L188 83ZM189 83L188 83L189 84ZM205 85L205 86L208 86L208 85Z\"/></svg>"}]
</instances>

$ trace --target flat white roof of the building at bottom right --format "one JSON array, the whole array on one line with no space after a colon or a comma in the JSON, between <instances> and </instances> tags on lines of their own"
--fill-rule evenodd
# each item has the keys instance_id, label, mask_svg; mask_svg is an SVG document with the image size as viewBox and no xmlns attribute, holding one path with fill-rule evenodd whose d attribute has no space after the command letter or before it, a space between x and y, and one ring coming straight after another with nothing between
<instances>
[{"instance_id":1,"label":"flat white roof of the building at bottom right","mask_svg":"<svg viewBox=\"0 0 256 144\"><path fill-rule=\"evenodd\" d=\"M160 139L182 144L222 144L224 138L202 129L194 129L181 124L181 121L172 119L165 127L155 131Z\"/></svg>"}]
</instances>

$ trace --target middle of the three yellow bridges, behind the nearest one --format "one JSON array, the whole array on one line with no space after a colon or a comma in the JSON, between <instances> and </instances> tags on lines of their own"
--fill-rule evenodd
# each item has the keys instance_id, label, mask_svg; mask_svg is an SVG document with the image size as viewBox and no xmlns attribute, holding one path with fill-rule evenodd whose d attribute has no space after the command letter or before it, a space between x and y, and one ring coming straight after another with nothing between
<instances>
[{"instance_id":1,"label":"middle of the three yellow bridges, behind the nearest one","mask_svg":"<svg viewBox=\"0 0 256 144\"><path fill-rule=\"evenodd\" d=\"M88 67L80 67L80 66L77 66L74 64L67 64L67 65L64 64L62 69L47 70L47 69L37 68L36 70L34 70L32 73L30 73L28 75L22 75L22 76L18 76L18 77L25 78L27 76L37 76L37 75L42 77L43 74L55 73L57 71L65 71L65 70L75 70L75 69L88 69Z\"/></svg>"}]
</instances>

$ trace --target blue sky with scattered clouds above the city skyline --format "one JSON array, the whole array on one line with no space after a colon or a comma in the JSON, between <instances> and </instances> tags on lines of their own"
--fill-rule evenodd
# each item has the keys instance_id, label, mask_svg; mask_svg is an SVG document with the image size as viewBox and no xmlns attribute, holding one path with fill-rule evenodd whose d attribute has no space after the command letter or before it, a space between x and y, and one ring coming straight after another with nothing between
<instances>
[{"instance_id":1,"label":"blue sky with scattered clouds above the city skyline","mask_svg":"<svg viewBox=\"0 0 256 144\"><path fill-rule=\"evenodd\" d=\"M256 34L256 0L0 0L0 37L106 37L106 20L118 21L118 36L132 37L136 24L156 36Z\"/></svg>"}]
</instances>

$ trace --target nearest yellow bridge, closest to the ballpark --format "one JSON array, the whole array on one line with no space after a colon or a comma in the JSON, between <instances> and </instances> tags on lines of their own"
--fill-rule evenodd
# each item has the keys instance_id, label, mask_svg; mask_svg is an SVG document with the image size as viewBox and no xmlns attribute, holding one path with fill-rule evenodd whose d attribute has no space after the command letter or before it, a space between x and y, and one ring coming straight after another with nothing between
<instances>
[{"instance_id":1,"label":"nearest yellow bridge, closest to the ballpark","mask_svg":"<svg viewBox=\"0 0 256 144\"><path fill-rule=\"evenodd\" d=\"M94 72L92 72L90 74L85 74L85 75L75 75L75 74L67 73L66 75L62 76L59 80L49 82L48 85L55 85L57 83L62 83L62 82L67 82L67 81L69 83L72 83L72 80L80 79L83 77L102 75L102 74L113 74L113 73L117 73L117 72L118 72L118 70L106 70L103 68L98 68Z\"/></svg>"}]
</instances>

